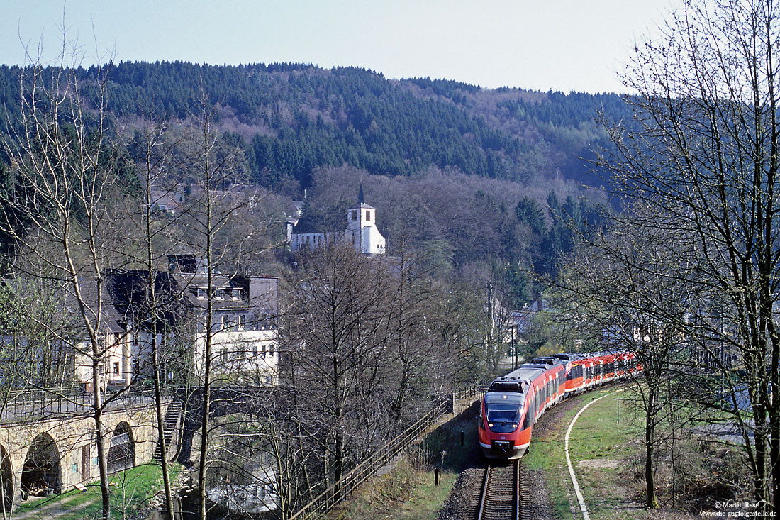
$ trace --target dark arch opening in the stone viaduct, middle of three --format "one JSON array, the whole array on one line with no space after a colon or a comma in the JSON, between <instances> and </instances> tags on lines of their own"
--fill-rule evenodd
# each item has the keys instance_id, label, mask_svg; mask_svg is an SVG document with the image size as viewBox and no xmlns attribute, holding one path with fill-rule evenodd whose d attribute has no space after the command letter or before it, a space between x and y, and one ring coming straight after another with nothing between
<instances>
[{"instance_id":1,"label":"dark arch opening in the stone viaduct, middle of three","mask_svg":"<svg viewBox=\"0 0 780 520\"><path fill-rule=\"evenodd\" d=\"M48 433L35 437L24 458L22 496L47 496L62 491L62 469L57 443Z\"/></svg>"}]
</instances>

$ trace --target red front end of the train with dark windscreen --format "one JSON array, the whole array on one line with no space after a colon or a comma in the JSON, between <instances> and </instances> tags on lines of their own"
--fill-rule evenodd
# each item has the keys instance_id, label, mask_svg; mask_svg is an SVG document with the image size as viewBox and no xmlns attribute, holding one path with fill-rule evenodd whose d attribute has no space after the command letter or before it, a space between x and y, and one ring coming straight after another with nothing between
<instances>
[{"instance_id":1,"label":"red front end of the train with dark windscreen","mask_svg":"<svg viewBox=\"0 0 780 520\"><path fill-rule=\"evenodd\" d=\"M479 436L487 458L512 459L525 454L530 426L523 429L523 403L519 392L488 391L480 408Z\"/></svg>"}]
</instances>

